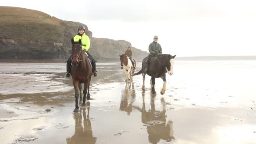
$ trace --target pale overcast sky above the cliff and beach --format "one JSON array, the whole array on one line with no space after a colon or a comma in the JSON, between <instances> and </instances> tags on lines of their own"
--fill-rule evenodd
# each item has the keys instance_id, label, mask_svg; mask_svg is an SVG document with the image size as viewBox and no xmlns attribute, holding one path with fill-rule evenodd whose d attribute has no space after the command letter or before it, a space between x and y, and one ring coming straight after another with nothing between
<instances>
[{"instance_id":1,"label":"pale overcast sky above the cliff and beach","mask_svg":"<svg viewBox=\"0 0 256 144\"><path fill-rule=\"evenodd\" d=\"M39 10L84 23L93 37L126 40L163 53L256 56L256 0L4 0L0 6Z\"/></svg>"}]
</instances>

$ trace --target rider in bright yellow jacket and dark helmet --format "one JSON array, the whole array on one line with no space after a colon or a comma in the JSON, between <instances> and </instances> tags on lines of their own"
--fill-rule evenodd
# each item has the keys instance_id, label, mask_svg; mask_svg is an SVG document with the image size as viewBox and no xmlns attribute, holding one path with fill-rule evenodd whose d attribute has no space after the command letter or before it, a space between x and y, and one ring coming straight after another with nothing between
<instances>
[{"instance_id":1,"label":"rider in bright yellow jacket and dark helmet","mask_svg":"<svg viewBox=\"0 0 256 144\"><path fill-rule=\"evenodd\" d=\"M78 26L78 34L74 36L74 41L78 42L79 39L81 39L82 41L82 50L84 50L88 56L92 59L92 71L93 71L93 76L98 76L97 71L96 71L96 63L95 60L93 59L92 55L88 52L89 48L90 48L90 38L89 36L85 35L85 26ZM66 72L66 77L69 77L71 69L70 69L70 65L71 65L71 57L69 57L68 61L67 61L67 72Z\"/></svg>"}]
</instances>

